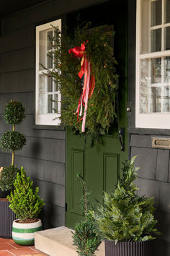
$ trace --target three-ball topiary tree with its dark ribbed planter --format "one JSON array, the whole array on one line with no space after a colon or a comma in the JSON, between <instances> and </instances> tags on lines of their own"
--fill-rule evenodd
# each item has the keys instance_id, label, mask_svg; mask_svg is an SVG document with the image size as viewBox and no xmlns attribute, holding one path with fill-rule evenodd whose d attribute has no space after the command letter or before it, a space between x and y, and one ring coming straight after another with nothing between
<instances>
[{"instance_id":1,"label":"three-ball topiary tree with its dark ribbed planter","mask_svg":"<svg viewBox=\"0 0 170 256\"><path fill-rule=\"evenodd\" d=\"M9 209L9 202L6 199L6 195L14 188L14 180L16 179L17 172L19 168L14 166L14 153L15 150L22 150L23 145L26 140L24 135L20 132L15 131L15 125L22 122L24 119L24 106L22 103L17 101L10 101L6 104L4 110L4 119L7 124L12 125L12 130L9 132L4 132L1 136L0 146L4 151L12 151L12 165L1 167L0 172L0 188L1 191L6 192L4 198L0 198L0 236L12 237L12 222L15 219L14 213Z\"/></svg>"}]
</instances>

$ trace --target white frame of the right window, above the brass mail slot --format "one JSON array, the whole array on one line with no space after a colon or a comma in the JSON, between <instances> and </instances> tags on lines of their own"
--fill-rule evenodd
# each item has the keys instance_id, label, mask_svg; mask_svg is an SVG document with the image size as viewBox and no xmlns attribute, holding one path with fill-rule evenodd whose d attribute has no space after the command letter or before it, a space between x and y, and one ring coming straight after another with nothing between
<instances>
[{"instance_id":1,"label":"white frame of the right window, above the brass mail slot","mask_svg":"<svg viewBox=\"0 0 170 256\"><path fill-rule=\"evenodd\" d=\"M136 81L135 81L135 127L138 128L153 128L153 129L170 129L170 113L151 113L140 114L140 60L161 58L161 64L164 65L164 56L170 56L170 50L163 51L164 43L164 28L170 23L164 23L164 5L162 6L162 25L154 26L153 28L162 28L161 35L161 51L152 52L149 54L140 54L141 45L141 0L137 1L136 9ZM153 1L153 0L148 0ZM163 4L165 1L163 0ZM150 5L151 6L151 5ZM151 13L151 12L150 12ZM149 19L150 20L150 19ZM150 24L149 24L150 25ZM149 35L150 36L150 35ZM162 66L162 72L163 72ZM163 77L164 74L161 75ZM162 84L161 84L162 85Z\"/></svg>"}]
</instances>

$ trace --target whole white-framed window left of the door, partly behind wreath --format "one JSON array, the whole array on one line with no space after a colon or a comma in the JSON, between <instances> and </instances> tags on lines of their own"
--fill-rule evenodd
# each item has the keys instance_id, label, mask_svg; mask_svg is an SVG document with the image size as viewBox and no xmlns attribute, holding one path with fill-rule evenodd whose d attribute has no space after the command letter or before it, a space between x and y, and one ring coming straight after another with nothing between
<instances>
[{"instance_id":1,"label":"whole white-framed window left of the door, partly behind wreath","mask_svg":"<svg viewBox=\"0 0 170 256\"><path fill-rule=\"evenodd\" d=\"M48 55L55 46L55 27L61 30L61 20L36 27L35 124L40 125L60 124L61 93L45 69L53 69L53 58Z\"/></svg>"}]
</instances>

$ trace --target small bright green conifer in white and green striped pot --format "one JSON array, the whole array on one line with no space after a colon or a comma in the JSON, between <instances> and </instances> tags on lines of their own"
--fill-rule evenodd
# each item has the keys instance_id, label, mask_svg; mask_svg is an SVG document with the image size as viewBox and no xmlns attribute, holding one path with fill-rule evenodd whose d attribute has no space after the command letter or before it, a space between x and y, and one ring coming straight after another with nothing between
<instances>
[{"instance_id":1,"label":"small bright green conifer in white and green striped pot","mask_svg":"<svg viewBox=\"0 0 170 256\"><path fill-rule=\"evenodd\" d=\"M42 223L37 216L44 205L38 194L38 187L33 191L33 182L26 176L22 167L14 182L14 192L8 195L11 208L17 220L13 221L12 239L20 245L32 245L35 242L35 231L42 230Z\"/></svg>"}]
</instances>

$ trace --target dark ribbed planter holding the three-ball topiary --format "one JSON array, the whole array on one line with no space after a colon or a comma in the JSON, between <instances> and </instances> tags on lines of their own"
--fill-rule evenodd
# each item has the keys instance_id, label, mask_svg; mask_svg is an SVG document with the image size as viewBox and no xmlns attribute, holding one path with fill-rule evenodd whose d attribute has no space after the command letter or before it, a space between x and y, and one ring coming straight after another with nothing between
<instances>
[{"instance_id":1,"label":"dark ribbed planter holding the three-ball topiary","mask_svg":"<svg viewBox=\"0 0 170 256\"><path fill-rule=\"evenodd\" d=\"M12 238L12 223L16 219L15 214L9 208L8 201L0 200L0 236Z\"/></svg>"}]
</instances>

